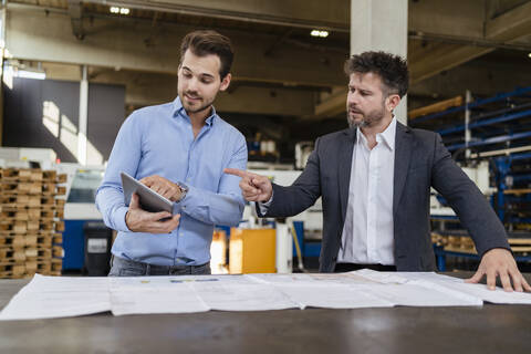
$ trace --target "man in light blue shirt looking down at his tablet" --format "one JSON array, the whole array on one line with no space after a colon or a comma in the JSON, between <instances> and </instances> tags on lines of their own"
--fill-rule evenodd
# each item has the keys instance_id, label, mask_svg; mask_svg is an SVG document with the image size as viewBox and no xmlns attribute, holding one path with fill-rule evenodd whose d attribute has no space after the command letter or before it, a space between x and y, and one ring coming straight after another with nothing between
<instances>
[{"instance_id":1,"label":"man in light blue shirt looking down at his tablet","mask_svg":"<svg viewBox=\"0 0 531 354\"><path fill-rule=\"evenodd\" d=\"M96 192L105 223L118 231L110 275L208 274L214 226L240 221L239 178L223 168L246 168L246 139L212 106L232 59L228 38L188 33L177 98L133 112L119 129ZM174 201L174 217L140 209L136 195L125 206L122 171Z\"/></svg>"}]
</instances>

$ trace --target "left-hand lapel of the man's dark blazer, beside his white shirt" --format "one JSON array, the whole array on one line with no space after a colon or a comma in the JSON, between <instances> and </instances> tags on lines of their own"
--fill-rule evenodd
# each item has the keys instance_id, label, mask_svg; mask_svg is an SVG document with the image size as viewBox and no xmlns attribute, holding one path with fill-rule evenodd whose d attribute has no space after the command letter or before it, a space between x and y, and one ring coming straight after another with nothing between
<instances>
[{"instance_id":1,"label":"left-hand lapel of the man's dark blazer, beside his white shirt","mask_svg":"<svg viewBox=\"0 0 531 354\"><path fill-rule=\"evenodd\" d=\"M337 160L337 184L340 187L341 222L345 222L346 206L348 205L348 186L351 184L352 152L356 140L356 129L344 131L344 138L340 144Z\"/></svg>"}]
</instances>

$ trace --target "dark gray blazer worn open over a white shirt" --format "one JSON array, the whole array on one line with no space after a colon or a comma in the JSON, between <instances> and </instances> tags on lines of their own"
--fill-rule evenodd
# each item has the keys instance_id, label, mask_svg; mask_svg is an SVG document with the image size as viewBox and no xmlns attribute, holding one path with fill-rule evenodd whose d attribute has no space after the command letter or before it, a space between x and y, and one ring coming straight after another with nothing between
<instances>
[{"instance_id":1,"label":"dark gray blazer worn open over a white shirt","mask_svg":"<svg viewBox=\"0 0 531 354\"><path fill-rule=\"evenodd\" d=\"M289 187L273 184L273 201L262 217L289 217L323 202L323 241L320 271L333 272L341 247L351 179L355 129L316 139L301 176ZM478 253L509 248L494 211L436 133L396 126L393 218L395 262L398 271L433 271L435 256L429 226L429 195L434 187L449 202L471 235Z\"/></svg>"}]
</instances>

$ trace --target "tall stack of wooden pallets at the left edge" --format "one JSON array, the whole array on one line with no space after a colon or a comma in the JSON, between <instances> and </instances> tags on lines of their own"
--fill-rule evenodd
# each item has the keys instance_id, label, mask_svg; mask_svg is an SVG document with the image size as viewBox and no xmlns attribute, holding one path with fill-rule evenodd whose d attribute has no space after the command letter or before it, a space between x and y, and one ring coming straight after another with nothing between
<instances>
[{"instance_id":1,"label":"tall stack of wooden pallets at the left edge","mask_svg":"<svg viewBox=\"0 0 531 354\"><path fill-rule=\"evenodd\" d=\"M66 175L0 169L0 278L60 275Z\"/></svg>"}]
</instances>

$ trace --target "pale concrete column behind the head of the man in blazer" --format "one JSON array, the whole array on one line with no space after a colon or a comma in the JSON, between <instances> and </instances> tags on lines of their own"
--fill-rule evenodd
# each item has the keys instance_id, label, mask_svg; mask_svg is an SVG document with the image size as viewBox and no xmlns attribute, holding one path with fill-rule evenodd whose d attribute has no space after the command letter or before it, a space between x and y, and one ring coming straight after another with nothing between
<instances>
[{"instance_id":1,"label":"pale concrete column behind the head of the man in blazer","mask_svg":"<svg viewBox=\"0 0 531 354\"><path fill-rule=\"evenodd\" d=\"M407 0L351 0L351 54L365 51L407 58ZM407 97L395 115L407 124Z\"/></svg>"}]
</instances>

